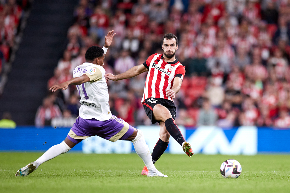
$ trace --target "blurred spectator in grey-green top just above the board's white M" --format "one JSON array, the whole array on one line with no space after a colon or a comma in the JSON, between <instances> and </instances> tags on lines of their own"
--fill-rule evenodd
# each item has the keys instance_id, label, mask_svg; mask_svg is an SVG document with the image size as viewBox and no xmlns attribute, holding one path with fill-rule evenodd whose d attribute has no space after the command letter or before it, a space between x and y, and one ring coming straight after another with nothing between
<instances>
[{"instance_id":1,"label":"blurred spectator in grey-green top just above the board's white M","mask_svg":"<svg viewBox=\"0 0 290 193\"><path fill-rule=\"evenodd\" d=\"M217 114L215 113L214 109L211 107L211 103L209 99L203 99L202 109L199 112L199 118L197 122L197 126L202 125L215 125L217 120Z\"/></svg>"}]
</instances>

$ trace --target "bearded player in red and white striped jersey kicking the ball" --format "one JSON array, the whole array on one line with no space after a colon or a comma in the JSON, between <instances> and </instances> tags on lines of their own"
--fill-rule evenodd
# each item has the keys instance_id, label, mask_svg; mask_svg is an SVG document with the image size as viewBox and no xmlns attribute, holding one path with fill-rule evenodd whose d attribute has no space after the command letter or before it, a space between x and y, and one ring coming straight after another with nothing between
<instances>
[{"instance_id":1,"label":"bearded player in red and white striped jersey kicking the ball","mask_svg":"<svg viewBox=\"0 0 290 193\"><path fill-rule=\"evenodd\" d=\"M175 52L178 49L177 37L174 34L165 34L162 49L164 54L153 54L143 64L122 74L105 75L107 79L117 81L148 71L141 103L151 122L153 124L158 122L160 126L160 139L152 152L153 163L166 150L170 135L182 146L189 157L194 155L190 144L185 141L175 124L176 107L173 99L180 90L185 74L185 67L175 58ZM148 168L144 166L141 173L148 175Z\"/></svg>"}]
</instances>

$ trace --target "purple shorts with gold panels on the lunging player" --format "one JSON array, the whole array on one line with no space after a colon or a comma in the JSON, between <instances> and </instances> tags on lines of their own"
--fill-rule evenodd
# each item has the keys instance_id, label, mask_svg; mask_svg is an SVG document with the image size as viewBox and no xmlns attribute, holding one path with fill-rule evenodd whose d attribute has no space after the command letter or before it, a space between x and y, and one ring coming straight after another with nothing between
<instances>
[{"instance_id":1,"label":"purple shorts with gold panels on the lunging player","mask_svg":"<svg viewBox=\"0 0 290 193\"><path fill-rule=\"evenodd\" d=\"M112 115L107 121L98 121L96 119L83 119L77 117L76 122L70 129L67 138L78 144L83 139L91 136L99 136L109 141L125 140L134 132L134 128L124 120Z\"/></svg>"}]
</instances>

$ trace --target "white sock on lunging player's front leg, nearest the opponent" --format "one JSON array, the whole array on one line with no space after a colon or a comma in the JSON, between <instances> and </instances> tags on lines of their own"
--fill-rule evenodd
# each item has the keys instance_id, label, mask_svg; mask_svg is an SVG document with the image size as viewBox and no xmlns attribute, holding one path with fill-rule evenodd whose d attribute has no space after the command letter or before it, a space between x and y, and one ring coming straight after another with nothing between
<instances>
[{"instance_id":1,"label":"white sock on lunging player's front leg, nearest the opponent","mask_svg":"<svg viewBox=\"0 0 290 193\"><path fill-rule=\"evenodd\" d=\"M132 140L135 151L137 155L139 155L139 157L141 157L141 159L144 161L145 166L147 167L148 171L156 172L157 169L155 168L153 164L151 153L145 142L143 132L139 129L137 130L138 130L137 136L135 137L135 139Z\"/></svg>"}]
</instances>

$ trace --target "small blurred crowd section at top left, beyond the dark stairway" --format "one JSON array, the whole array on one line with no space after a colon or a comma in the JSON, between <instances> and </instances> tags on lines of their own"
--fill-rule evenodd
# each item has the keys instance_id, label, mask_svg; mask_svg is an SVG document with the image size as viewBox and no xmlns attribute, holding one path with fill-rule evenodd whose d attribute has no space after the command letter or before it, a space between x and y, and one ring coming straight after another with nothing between
<instances>
[{"instance_id":1,"label":"small blurred crowd section at top left, beyond the dark stairway","mask_svg":"<svg viewBox=\"0 0 290 193\"><path fill-rule=\"evenodd\" d=\"M0 80L3 64L9 61L19 33L23 10L28 6L29 0L0 0Z\"/></svg>"}]
</instances>

